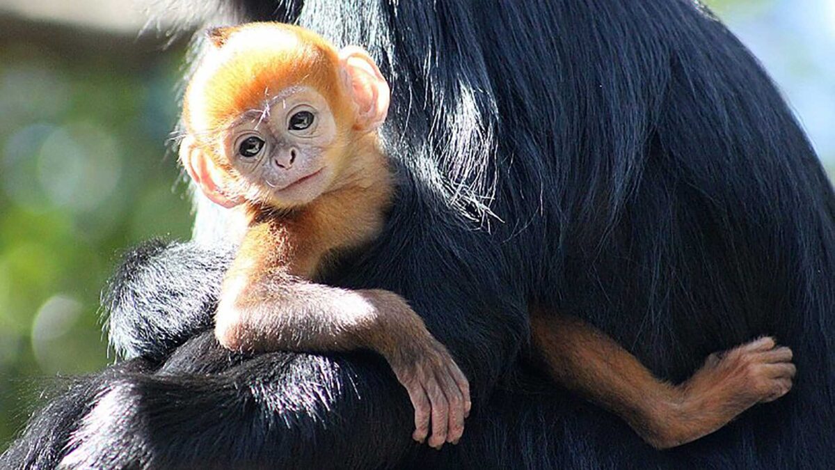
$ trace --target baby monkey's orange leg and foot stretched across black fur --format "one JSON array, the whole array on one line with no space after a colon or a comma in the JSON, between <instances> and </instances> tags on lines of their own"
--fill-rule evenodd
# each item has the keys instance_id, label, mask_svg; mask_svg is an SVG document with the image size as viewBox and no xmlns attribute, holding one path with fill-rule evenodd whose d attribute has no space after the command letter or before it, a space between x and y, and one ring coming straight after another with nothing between
<instances>
[{"instance_id":1,"label":"baby monkey's orange leg and foot stretched across black fur","mask_svg":"<svg viewBox=\"0 0 835 470\"><path fill-rule=\"evenodd\" d=\"M672 386L579 319L534 312L531 322L534 345L554 378L621 416L655 448L706 436L792 388L792 350L772 338L712 354L688 381Z\"/></svg>"}]
</instances>

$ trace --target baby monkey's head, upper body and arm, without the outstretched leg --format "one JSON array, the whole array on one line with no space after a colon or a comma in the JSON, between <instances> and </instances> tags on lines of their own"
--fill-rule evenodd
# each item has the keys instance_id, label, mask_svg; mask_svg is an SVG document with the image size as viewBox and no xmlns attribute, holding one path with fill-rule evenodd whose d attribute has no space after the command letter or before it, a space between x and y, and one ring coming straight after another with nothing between
<instances>
[{"instance_id":1,"label":"baby monkey's head, upper body and arm, without the outstretched leg","mask_svg":"<svg viewBox=\"0 0 835 470\"><path fill-rule=\"evenodd\" d=\"M377 127L389 89L359 48L337 51L277 23L210 31L185 93L180 160L212 201L249 226L226 273L215 335L232 350L366 348L415 407L413 437L458 442L466 377L407 303L385 290L315 284L334 253L377 235L392 196Z\"/></svg>"}]
</instances>

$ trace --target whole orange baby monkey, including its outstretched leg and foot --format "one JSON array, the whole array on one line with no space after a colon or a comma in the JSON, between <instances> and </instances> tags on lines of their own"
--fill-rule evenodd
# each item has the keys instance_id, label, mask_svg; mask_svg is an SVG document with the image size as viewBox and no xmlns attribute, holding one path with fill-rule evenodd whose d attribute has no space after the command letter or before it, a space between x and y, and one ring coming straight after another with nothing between
<instances>
[{"instance_id":1,"label":"whole orange baby monkey, including its outstretched leg and foot","mask_svg":"<svg viewBox=\"0 0 835 470\"><path fill-rule=\"evenodd\" d=\"M220 344L377 351L412 401L412 437L433 447L458 442L470 410L467 378L407 302L314 282L329 258L377 236L392 198L377 135L389 88L377 65L362 49L337 51L280 23L209 36L214 47L185 94L180 161L210 200L243 207L248 221L215 314ZM792 386L791 350L770 338L711 355L671 386L588 324L535 307L531 321L557 381L659 448L716 431Z\"/></svg>"}]
</instances>

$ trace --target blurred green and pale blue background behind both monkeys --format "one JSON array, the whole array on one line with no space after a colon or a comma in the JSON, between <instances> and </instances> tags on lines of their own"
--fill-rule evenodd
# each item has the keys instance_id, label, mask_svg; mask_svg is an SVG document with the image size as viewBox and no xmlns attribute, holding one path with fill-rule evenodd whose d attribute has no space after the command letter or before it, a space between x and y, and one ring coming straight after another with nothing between
<instances>
[{"instance_id":1,"label":"blurred green and pale blue background behind both monkeys","mask_svg":"<svg viewBox=\"0 0 835 470\"><path fill-rule=\"evenodd\" d=\"M706 2L835 161L832 0ZM99 295L119 251L188 238L166 140L184 43L124 0L0 0L0 452L56 375L114 360Z\"/></svg>"}]
</instances>

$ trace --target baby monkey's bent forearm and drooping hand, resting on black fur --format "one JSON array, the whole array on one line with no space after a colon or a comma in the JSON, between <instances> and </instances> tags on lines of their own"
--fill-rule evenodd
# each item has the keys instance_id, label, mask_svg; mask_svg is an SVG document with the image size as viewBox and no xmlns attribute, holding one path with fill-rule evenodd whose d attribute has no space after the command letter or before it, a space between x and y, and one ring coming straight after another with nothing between
<instances>
[{"instance_id":1,"label":"baby monkey's bent forearm and drooping hand, resting on black fur","mask_svg":"<svg viewBox=\"0 0 835 470\"><path fill-rule=\"evenodd\" d=\"M225 292L215 335L232 350L375 350L392 366L415 408L412 437L458 442L470 410L469 384L447 349L397 294L308 282L253 283ZM253 287L255 286L255 287Z\"/></svg>"}]
</instances>

